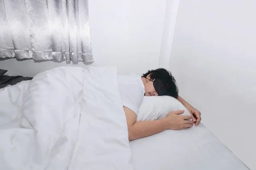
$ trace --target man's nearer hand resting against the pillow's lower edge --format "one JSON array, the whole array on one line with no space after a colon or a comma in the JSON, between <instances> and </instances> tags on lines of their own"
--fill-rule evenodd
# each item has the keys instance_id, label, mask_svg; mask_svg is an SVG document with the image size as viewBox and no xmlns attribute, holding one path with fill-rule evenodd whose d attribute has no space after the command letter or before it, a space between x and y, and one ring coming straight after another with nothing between
<instances>
[{"instance_id":1,"label":"man's nearer hand resting against the pillow's lower edge","mask_svg":"<svg viewBox=\"0 0 256 170\"><path fill-rule=\"evenodd\" d=\"M193 126L193 121L188 120L191 119L191 116L183 116L183 115L179 115L184 113L183 111L173 111L171 113L169 113L168 116L166 116L166 118L164 118L166 120L168 129L172 129L172 130L181 130L181 129L187 129L189 127Z\"/></svg>"}]
</instances>

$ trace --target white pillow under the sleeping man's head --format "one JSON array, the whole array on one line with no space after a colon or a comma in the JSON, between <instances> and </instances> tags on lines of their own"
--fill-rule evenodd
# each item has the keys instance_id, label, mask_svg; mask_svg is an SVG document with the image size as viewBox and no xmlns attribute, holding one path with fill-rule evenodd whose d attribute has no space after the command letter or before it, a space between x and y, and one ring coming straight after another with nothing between
<instances>
[{"instance_id":1,"label":"white pillow under the sleeping man's head","mask_svg":"<svg viewBox=\"0 0 256 170\"><path fill-rule=\"evenodd\" d=\"M171 96L144 96L140 105L137 121L165 118L172 111L184 110L180 115L189 115L189 111L177 99Z\"/></svg>"}]
</instances>

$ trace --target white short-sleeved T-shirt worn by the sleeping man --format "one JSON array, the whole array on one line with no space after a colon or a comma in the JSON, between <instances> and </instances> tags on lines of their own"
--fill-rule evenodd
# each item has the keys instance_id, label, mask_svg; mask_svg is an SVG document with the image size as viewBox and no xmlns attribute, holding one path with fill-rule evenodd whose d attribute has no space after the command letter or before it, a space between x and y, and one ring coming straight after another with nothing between
<instances>
[{"instance_id":1,"label":"white short-sleeved T-shirt worn by the sleeping man","mask_svg":"<svg viewBox=\"0 0 256 170\"><path fill-rule=\"evenodd\" d=\"M145 94L145 87L140 76L136 74L117 76L122 105L138 114Z\"/></svg>"}]
</instances>

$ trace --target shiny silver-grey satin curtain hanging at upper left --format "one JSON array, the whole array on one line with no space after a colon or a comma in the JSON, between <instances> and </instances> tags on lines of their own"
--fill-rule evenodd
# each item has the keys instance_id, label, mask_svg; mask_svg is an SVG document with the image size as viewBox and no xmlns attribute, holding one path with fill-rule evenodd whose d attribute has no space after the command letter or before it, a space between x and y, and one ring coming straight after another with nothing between
<instances>
[{"instance_id":1,"label":"shiny silver-grey satin curtain hanging at upper left","mask_svg":"<svg viewBox=\"0 0 256 170\"><path fill-rule=\"evenodd\" d=\"M93 62L88 0L0 0L0 58Z\"/></svg>"}]
</instances>

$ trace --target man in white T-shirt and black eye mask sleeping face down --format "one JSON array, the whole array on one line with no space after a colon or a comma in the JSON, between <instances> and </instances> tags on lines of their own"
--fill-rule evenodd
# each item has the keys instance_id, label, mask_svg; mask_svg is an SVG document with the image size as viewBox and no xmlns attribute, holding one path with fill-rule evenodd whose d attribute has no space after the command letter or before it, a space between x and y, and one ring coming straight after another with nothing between
<instances>
[{"instance_id":1,"label":"man in white T-shirt and black eye mask sleeping face down","mask_svg":"<svg viewBox=\"0 0 256 170\"><path fill-rule=\"evenodd\" d=\"M197 126L201 121L201 113L178 96L175 78L166 69L151 70L142 77L134 74L118 76L118 84L130 141L151 136L166 129L187 129L194 123ZM164 119L136 122L143 96L175 97L188 109L191 116L179 115L184 111L173 111Z\"/></svg>"}]
</instances>

